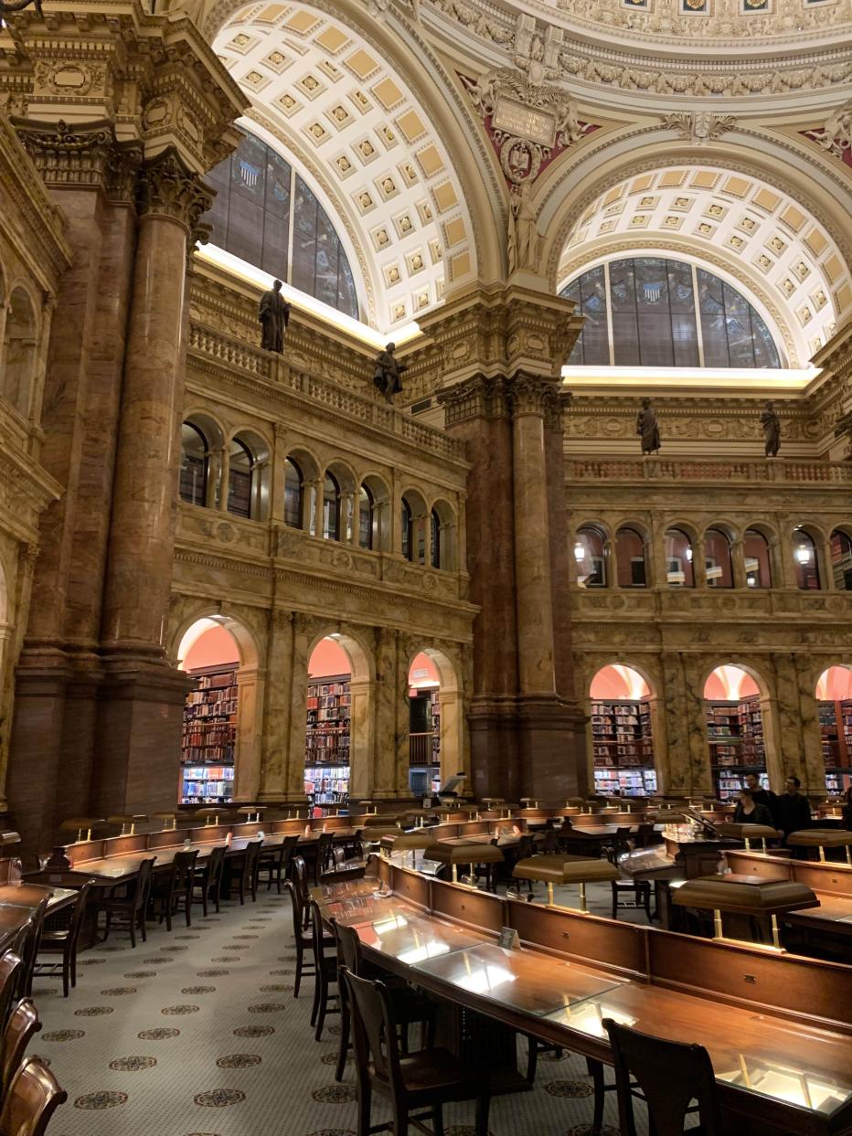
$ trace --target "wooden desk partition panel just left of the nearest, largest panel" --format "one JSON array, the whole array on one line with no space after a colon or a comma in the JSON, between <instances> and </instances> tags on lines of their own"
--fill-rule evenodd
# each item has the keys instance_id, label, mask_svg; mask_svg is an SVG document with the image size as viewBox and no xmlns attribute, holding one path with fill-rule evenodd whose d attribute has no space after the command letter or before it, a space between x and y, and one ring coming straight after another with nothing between
<instances>
[{"instance_id":1,"label":"wooden desk partition panel just left of the nearest, largest panel","mask_svg":"<svg viewBox=\"0 0 852 1136\"><path fill-rule=\"evenodd\" d=\"M507 926L523 943L571 955L630 976L648 976L648 928L634 924L575 914L537 903L507 902Z\"/></svg>"}]
</instances>

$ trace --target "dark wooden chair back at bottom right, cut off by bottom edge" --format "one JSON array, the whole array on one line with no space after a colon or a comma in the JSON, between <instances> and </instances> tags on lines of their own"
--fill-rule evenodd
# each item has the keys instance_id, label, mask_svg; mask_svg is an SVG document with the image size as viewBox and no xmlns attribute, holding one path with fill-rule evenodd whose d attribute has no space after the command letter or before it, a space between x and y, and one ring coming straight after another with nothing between
<instances>
[{"instance_id":1,"label":"dark wooden chair back at bottom right, cut off by bottom edge","mask_svg":"<svg viewBox=\"0 0 852 1136\"><path fill-rule=\"evenodd\" d=\"M698 1101L702 1136L722 1136L713 1067L703 1046L641 1034L610 1018L604 1018L603 1025L615 1059L623 1136L637 1133L633 1114L635 1085L648 1102L650 1127L657 1136L683 1136L693 1100Z\"/></svg>"}]
</instances>

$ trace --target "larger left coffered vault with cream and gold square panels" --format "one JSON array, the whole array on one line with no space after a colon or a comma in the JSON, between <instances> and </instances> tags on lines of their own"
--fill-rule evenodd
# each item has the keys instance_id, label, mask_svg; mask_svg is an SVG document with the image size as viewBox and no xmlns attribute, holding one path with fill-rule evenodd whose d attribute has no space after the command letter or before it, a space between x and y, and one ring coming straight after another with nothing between
<instances>
[{"instance_id":1,"label":"larger left coffered vault with cream and gold square panels","mask_svg":"<svg viewBox=\"0 0 852 1136\"><path fill-rule=\"evenodd\" d=\"M450 284L476 276L450 154L404 78L356 31L307 6L256 3L225 24L214 48L275 134L311 153L329 200L342 202L379 328L417 319Z\"/></svg>"}]
</instances>

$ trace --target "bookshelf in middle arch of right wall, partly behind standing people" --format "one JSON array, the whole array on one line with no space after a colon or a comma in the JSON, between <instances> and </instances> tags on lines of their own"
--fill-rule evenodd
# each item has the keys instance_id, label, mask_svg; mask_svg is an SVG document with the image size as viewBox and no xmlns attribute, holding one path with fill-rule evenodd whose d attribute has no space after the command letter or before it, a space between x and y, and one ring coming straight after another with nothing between
<instances>
[{"instance_id":1,"label":"bookshelf in middle arch of right wall, partly behind standing people","mask_svg":"<svg viewBox=\"0 0 852 1136\"><path fill-rule=\"evenodd\" d=\"M755 694L740 702L707 702L705 713L718 800L736 796L747 772L758 774L761 786L769 788L760 698Z\"/></svg>"}]
</instances>

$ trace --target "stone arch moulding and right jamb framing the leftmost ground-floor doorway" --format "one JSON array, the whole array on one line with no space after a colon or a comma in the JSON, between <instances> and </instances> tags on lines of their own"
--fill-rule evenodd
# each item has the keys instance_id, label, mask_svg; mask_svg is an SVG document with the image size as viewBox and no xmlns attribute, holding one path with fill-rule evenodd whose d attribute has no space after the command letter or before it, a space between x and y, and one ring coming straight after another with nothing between
<instances>
[{"instance_id":1,"label":"stone arch moulding and right jamb framing the leftmost ground-floor doorway","mask_svg":"<svg viewBox=\"0 0 852 1136\"><path fill-rule=\"evenodd\" d=\"M185 616L175 629L172 653L177 666L183 668L192 646L215 627L231 635L239 655L233 799L256 801L260 785L266 673L260 667L260 650L254 634L243 619L223 611L219 605L200 605L192 615Z\"/></svg>"}]
</instances>

